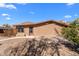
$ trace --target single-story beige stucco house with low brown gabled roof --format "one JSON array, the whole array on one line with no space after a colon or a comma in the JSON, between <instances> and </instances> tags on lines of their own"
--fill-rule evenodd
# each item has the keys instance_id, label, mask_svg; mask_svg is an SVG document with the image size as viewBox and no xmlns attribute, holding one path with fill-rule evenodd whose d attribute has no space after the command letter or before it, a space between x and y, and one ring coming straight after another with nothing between
<instances>
[{"instance_id":1,"label":"single-story beige stucco house with low brown gabled roof","mask_svg":"<svg viewBox=\"0 0 79 59\"><path fill-rule=\"evenodd\" d=\"M61 35L61 29L68 24L61 21L48 20L39 23L25 22L14 25L16 36L57 36Z\"/></svg>"}]
</instances>

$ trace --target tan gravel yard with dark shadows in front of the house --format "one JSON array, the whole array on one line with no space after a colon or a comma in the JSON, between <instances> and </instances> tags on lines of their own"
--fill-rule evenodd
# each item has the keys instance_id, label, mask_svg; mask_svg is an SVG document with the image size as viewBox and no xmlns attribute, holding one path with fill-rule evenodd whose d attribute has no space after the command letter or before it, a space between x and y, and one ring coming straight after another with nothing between
<instances>
[{"instance_id":1,"label":"tan gravel yard with dark shadows in front of the house","mask_svg":"<svg viewBox=\"0 0 79 59\"><path fill-rule=\"evenodd\" d=\"M4 39L1 38L0 41L0 55L2 56L79 56L78 53L62 44L61 38L51 38L53 39L51 40L32 37L7 37L6 39L5 37ZM58 40L60 44L57 48L54 45Z\"/></svg>"}]
</instances>

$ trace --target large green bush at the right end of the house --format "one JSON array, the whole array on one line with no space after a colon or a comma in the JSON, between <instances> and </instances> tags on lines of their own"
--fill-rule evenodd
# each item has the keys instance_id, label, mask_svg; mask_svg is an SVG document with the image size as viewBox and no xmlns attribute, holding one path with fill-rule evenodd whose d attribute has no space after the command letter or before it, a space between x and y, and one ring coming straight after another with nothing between
<instances>
[{"instance_id":1,"label":"large green bush at the right end of the house","mask_svg":"<svg viewBox=\"0 0 79 59\"><path fill-rule=\"evenodd\" d=\"M73 42L76 45L79 45L79 33L78 33L78 25L76 24L76 20L70 23L70 27L64 27L62 29L62 35L64 38L68 39L69 41Z\"/></svg>"}]
</instances>

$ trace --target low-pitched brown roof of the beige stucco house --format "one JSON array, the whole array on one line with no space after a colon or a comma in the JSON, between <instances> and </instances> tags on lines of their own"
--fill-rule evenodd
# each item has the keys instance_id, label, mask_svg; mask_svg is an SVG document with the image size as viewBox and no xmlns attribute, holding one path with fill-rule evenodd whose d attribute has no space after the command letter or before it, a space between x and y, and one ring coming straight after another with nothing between
<instances>
[{"instance_id":1,"label":"low-pitched brown roof of the beige stucco house","mask_svg":"<svg viewBox=\"0 0 79 59\"><path fill-rule=\"evenodd\" d=\"M41 25L46 25L46 24L50 24L50 23L55 23L57 25L60 25L60 26L69 26L69 24L65 23L65 22L60 22L60 21L55 21L55 20L48 20L48 21L44 21L44 22L39 22L39 23L30 23L30 24L17 24L17 25L14 25L14 26L24 26L24 27L29 27L29 26L34 26L34 27L37 27L37 26L41 26Z\"/></svg>"}]
</instances>

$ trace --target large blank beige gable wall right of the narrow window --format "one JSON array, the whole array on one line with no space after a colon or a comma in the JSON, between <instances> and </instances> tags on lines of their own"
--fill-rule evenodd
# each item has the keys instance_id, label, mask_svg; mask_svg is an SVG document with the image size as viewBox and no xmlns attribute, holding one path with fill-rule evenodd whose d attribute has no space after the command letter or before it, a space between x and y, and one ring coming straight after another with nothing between
<instances>
[{"instance_id":1,"label":"large blank beige gable wall right of the narrow window","mask_svg":"<svg viewBox=\"0 0 79 59\"><path fill-rule=\"evenodd\" d=\"M33 34L35 36L57 36L60 34L61 26L56 24L47 24L40 27L35 27Z\"/></svg>"}]
</instances>

